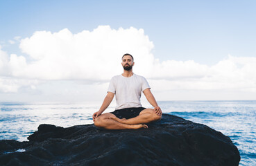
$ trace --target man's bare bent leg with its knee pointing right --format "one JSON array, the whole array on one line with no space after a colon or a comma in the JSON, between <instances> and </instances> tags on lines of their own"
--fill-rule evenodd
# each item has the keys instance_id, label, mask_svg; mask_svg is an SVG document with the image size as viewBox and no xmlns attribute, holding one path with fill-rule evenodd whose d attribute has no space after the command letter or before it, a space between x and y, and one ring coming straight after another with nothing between
<instances>
[{"instance_id":1,"label":"man's bare bent leg with its knee pointing right","mask_svg":"<svg viewBox=\"0 0 256 166\"><path fill-rule=\"evenodd\" d=\"M116 116L111 116L110 118L113 120L117 120L117 122L121 122L123 124L142 124L142 123L144 124L144 123L160 120L162 118L162 115L157 116L154 109L144 109L139 113L139 116L136 116L135 118L119 119Z\"/></svg>"}]
</instances>

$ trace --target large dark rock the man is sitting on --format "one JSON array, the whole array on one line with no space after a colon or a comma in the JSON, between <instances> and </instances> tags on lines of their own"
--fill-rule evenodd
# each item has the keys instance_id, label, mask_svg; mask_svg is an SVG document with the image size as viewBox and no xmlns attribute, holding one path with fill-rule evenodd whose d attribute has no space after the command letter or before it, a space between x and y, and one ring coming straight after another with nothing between
<instances>
[{"instance_id":1,"label":"large dark rock the man is sitting on","mask_svg":"<svg viewBox=\"0 0 256 166\"><path fill-rule=\"evenodd\" d=\"M40 124L28 140L0 140L0 165L234 166L240 160L228 136L168 114L138 130Z\"/></svg>"}]
</instances>

